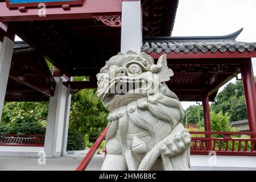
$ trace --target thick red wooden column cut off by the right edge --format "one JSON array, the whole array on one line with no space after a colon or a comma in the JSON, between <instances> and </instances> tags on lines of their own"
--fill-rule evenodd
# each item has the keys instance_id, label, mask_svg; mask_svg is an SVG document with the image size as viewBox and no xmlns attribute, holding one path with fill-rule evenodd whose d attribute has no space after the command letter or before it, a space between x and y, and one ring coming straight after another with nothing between
<instances>
[{"instance_id":1,"label":"thick red wooden column cut off by the right edge","mask_svg":"<svg viewBox=\"0 0 256 182\"><path fill-rule=\"evenodd\" d=\"M243 89L245 92L245 100L247 107L247 115L249 122L249 129L252 132L256 131L256 89L253 76L253 67L251 66L251 59L246 59L242 64L242 79ZM256 136L251 136L256 138ZM256 150L256 144L254 144Z\"/></svg>"}]
</instances>

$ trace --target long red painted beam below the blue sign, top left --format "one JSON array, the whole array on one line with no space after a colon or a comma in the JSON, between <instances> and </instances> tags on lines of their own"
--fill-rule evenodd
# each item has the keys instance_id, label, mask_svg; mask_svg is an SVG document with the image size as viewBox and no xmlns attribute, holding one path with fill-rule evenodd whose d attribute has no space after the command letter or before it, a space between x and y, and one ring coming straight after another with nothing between
<instances>
[{"instance_id":1,"label":"long red painted beam below the blue sign, top left","mask_svg":"<svg viewBox=\"0 0 256 182\"><path fill-rule=\"evenodd\" d=\"M27 9L20 12L18 9L8 9L5 2L0 3L0 20L2 22L53 20L53 19L83 19L92 18L92 14L121 14L122 0L86 0L81 6L71 6L71 10L61 7L46 7L46 16L38 16L39 8Z\"/></svg>"}]
</instances>

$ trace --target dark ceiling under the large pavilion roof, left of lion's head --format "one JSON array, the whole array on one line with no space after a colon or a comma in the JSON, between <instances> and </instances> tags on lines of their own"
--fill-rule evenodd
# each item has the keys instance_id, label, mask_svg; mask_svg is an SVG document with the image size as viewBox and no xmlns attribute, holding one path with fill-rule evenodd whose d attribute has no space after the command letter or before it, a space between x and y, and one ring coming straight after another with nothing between
<instances>
[{"instance_id":1,"label":"dark ceiling under the large pavilion roof, left of lion's head","mask_svg":"<svg viewBox=\"0 0 256 182\"><path fill-rule=\"evenodd\" d=\"M121 28L96 19L16 22L17 34L68 76L96 75L118 53Z\"/></svg>"}]
</instances>

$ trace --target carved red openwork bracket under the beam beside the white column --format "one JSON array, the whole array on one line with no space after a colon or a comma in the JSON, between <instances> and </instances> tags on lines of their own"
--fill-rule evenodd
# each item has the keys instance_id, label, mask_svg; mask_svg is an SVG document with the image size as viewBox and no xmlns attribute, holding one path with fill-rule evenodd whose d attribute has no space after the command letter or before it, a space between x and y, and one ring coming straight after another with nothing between
<instances>
[{"instance_id":1,"label":"carved red openwork bracket under the beam beside the white column","mask_svg":"<svg viewBox=\"0 0 256 182\"><path fill-rule=\"evenodd\" d=\"M104 23L109 27L121 27L121 15L92 15L97 21Z\"/></svg>"}]
</instances>

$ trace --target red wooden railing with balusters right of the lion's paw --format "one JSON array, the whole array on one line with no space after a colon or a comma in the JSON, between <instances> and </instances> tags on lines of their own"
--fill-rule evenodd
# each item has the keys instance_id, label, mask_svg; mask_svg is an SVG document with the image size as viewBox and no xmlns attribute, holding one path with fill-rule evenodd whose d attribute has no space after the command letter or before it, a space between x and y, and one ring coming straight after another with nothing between
<instances>
[{"instance_id":1,"label":"red wooden railing with balusters right of the lion's paw","mask_svg":"<svg viewBox=\"0 0 256 182\"><path fill-rule=\"evenodd\" d=\"M217 155L256 156L256 151L254 150L256 132L191 131L189 133L192 135L191 154L193 155L208 155L209 151L216 151ZM204 136L193 137L195 134ZM212 138L206 138L207 134L211 134ZM214 135L221 135L221 137L214 137ZM242 135L247 135L250 138L242 138Z\"/></svg>"}]
</instances>

